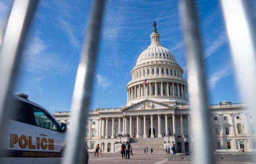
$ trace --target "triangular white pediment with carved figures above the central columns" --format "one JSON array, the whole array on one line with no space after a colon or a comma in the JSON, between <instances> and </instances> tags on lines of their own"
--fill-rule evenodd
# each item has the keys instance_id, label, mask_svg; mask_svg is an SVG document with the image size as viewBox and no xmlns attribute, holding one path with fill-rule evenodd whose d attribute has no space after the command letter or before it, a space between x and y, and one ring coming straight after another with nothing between
<instances>
[{"instance_id":1,"label":"triangular white pediment with carved figures above the central columns","mask_svg":"<svg viewBox=\"0 0 256 164\"><path fill-rule=\"evenodd\" d=\"M153 101L151 99L145 99L141 102L128 106L123 110L133 111L133 110L154 110L154 109L170 109L170 108L174 108L174 107L166 104L162 104L157 101Z\"/></svg>"}]
</instances>

